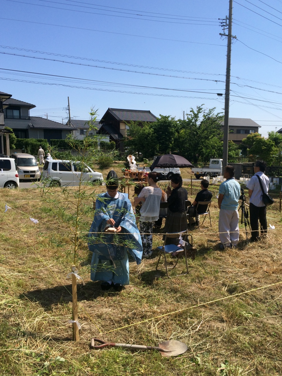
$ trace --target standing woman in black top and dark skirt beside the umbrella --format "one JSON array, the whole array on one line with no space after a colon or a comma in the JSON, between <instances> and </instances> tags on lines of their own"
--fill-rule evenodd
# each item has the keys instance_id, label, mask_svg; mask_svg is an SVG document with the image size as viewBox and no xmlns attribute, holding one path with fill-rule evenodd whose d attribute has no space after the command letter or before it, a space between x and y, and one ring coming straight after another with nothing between
<instances>
[{"instance_id":1,"label":"standing woman in black top and dark skirt beside the umbrella","mask_svg":"<svg viewBox=\"0 0 282 376\"><path fill-rule=\"evenodd\" d=\"M168 213L165 219L164 232L181 232L187 230L187 213L185 201L188 199L188 193L182 188L182 177L180 174L171 176L170 186L167 188ZM167 244L178 244L177 238L168 238Z\"/></svg>"}]
</instances>

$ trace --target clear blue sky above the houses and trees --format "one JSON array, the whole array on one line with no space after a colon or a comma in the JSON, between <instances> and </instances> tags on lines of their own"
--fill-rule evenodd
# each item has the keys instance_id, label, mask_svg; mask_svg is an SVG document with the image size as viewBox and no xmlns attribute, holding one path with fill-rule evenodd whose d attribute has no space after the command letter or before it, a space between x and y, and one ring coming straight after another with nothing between
<instances>
[{"instance_id":1,"label":"clear blue sky above the houses and trees","mask_svg":"<svg viewBox=\"0 0 282 376\"><path fill-rule=\"evenodd\" d=\"M266 3L233 1L232 34L238 40L232 45L230 97L230 117L257 121L263 136L282 127L282 1L272 0L272 8ZM218 18L228 9L228 0L2 0L1 67L16 71L0 71L0 91L35 104L32 115L48 113L59 122L66 121L68 96L76 119L88 119L91 107L98 109L98 118L108 107L176 118L202 104L221 112L224 96L216 93L224 94L225 84L215 81L225 81L227 41L220 38Z\"/></svg>"}]
</instances>

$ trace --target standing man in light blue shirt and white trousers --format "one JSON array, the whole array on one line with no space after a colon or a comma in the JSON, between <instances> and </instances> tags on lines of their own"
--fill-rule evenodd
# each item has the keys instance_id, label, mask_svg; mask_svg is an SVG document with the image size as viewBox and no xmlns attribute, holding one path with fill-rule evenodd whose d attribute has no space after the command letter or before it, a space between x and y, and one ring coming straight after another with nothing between
<instances>
[{"instance_id":1,"label":"standing man in light blue shirt and white trousers","mask_svg":"<svg viewBox=\"0 0 282 376\"><path fill-rule=\"evenodd\" d=\"M226 180L220 184L218 192L220 249L236 248L239 241L239 213L237 209L241 186L234 179L234 173L233 166L224 167L223 177Z\"/></svg>"}]
</instances>

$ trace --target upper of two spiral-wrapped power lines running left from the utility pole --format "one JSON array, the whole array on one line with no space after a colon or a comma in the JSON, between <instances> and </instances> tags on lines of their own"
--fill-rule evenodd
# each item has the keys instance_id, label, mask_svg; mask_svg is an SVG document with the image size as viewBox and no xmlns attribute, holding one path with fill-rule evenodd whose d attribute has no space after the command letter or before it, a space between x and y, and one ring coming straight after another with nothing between
<instances>
[{"instance_id":1,"label":"upper of two spiral-wrapped power lines running left from the utility pole","mask_svg":"<svg viewBox=\"0 0 282 376\"><path fill-rule=\"evenodd\" d=\"M107 60L99 60L99 59L92 59L92 58L83 58L83 57L80 57L80 56L63 55L61 53L45 52L45 51L38 51L38 50L29 50L29 49L24 49L24 48L3 46L3 45L0 45L0 47L3 48L3 49L26 51L26 52L32 52L32 53L40 53L40 54L49 55L49 56L50 55L52 55L52 56L61 56L63 58L70 58L70 59L80 59L80 60L87 60L87 61L97 61L97 62L106 63L106 64L125 65L127 67L137 67L137 68L145 68L145 69L156 69L156 70L164 70L164 71L171 71L171 72L178 72L178 73L205 74L205 75L208 75L208 76L225 76L224 74L219 74L219 73L203 73L203 72L192 72L192 71L179 70L179 69L170 69L170 68L148 67L146 65L136 65L136 64L121 63L121 62L116 62L116 61L107 61Z\"/></svg>"}]
</instances>

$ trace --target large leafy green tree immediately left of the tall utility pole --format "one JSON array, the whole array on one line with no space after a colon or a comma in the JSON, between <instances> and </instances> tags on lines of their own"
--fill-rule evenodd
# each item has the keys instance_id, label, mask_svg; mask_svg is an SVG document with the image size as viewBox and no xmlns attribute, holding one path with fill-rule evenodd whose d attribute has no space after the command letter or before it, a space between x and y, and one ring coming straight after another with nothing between
<instances>
[{"instance_id":1,"label":"large leafy green tree immediately left of the tall utility pole","mask_svg":"<svg viewBox=\"0 0 282 376\"><path fill-rule=\"evenodd\" d=\"M215 114L214 110L204 109L203 105L197 106L196 111L191 108L186 120L178 121L178 152L194 164L199 161L206 163L210 158L222 155L223 115Z\"/></svg>"}]
</instances>

